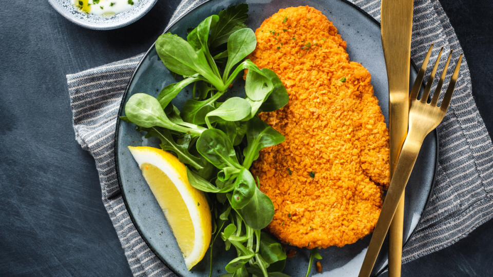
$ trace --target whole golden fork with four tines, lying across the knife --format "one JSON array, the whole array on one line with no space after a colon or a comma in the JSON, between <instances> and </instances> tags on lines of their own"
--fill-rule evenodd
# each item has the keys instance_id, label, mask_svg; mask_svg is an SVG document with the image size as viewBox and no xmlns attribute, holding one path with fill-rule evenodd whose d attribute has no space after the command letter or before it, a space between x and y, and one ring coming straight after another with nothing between
<instances>
[{"instance_id":1,"label":"whole golden fork with four tines, lying across the knife","mask_svg":"<svg viewBox=\"0 0 493 277\"><path fill-rule=\"evenodd\" d=\"M443 51L442 47L437 57L437 61L433 66L430 77L428 78L428 82L426 83L423 95L419 100L417 99L432 49L433 45L431 45L428 53L426 54L423 65L418 72L418 76L414 81L414 85L412 86L411 93L409 95L409 130L406 140L402 146L399 160L397 160L394 174L392 176L392 180L390 181L387 195L385 196L384 205L382 206L380 217L378 217L375 229L373 230L373 235L371 236L370 245L368 246L368 251L365 255L365 260L363 261L363 265L359 271L360 277L370 276L378 252L382 248L385 235L389 230L392 217L394 216L399 200L401 199L404 189L406 188L409 175L411 174L414 163L416 162L416 158L420 152L423 140L429 132L437 128L440 122L442 122L450 104L453 89L456 86L457 76L459 75L459 69L462 62L462 53L459 57L456 68L453 71L452 78L443 97L442 104L437 106L450 58L452 57L452 51L450 51L437 88L433 93L433 98L428 104L428 96L430 94L431 85L433 84L433 79L435 73L437 72L438 64L440 63L440 57Z\"/></svg>"}]
</instances>

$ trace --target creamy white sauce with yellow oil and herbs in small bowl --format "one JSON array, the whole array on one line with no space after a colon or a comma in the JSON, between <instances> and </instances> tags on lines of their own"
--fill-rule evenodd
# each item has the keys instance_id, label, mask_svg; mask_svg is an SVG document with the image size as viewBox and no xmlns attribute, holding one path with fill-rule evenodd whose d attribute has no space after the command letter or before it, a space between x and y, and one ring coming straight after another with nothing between
<instances>
[{"instance_id":1,"label":"creamy white sauce with yellow oil and herbs in small bowl","mask_svg":"<svg viewBox=\"0 0 493 277\"><path fill-rule=\"evenodd\" d=\"M112 16L133 7L139 0L75 0L74 5L85 13Z\"/></svg>"}]
</instances>

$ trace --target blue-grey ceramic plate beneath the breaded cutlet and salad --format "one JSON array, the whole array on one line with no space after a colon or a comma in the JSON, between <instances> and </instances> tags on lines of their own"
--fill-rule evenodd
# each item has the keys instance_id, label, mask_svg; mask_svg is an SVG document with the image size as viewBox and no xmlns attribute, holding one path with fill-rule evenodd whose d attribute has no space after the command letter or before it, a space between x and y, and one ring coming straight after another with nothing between
<instances>
[{"instance_id":1,"label":"blue-grey ceramic plate beneath the breaded cutlet and salad","mask_svg":"<svg viewBox=\"0 0 493 277\"><path fill-rule=\"evenodd\" d=\"M189 27L195 27L205 17L216 14L221 9L232 4L238 4L240 0L221 0L202 4L193 11L181 17L169 30L185 36ZM380 100L382 111L388 121L388 85L385 70L384 56L380 39L380 27L368 15L361 10L344 1L324 0L254 0L247 1L250 8L248 25L254 30L260 26L264 18L277 12L280 8L310 5L321 10L330 21L337 27L343 39L347 41L349 57L352 61L362 63L372 75L372 84L375 95ZM164 24L164 23L163 23ZM411 80L414 80L415 71L412 70ZM141 64L137 68L127 91L123 103L134 93L145 92L157 95L165 85L175 82L173 76L160 61L154 46L149 49ZM242 82L237 82L242 83ZM237 84L241 87L242 84ZM233 88L234 90L235 88ZM239 89L238 89L239 91ZM175 105L181 107L186 98L190 97L189 91L184 91ZM123 109L120 109L120 115ZM208 274L209 256L207 253L204 260L187 271L183 259L175 241L172 231L165 220L159 205L146 185L140 169L132 159L127 149L128 145L153 145L155 141L143 139L142 134L135 131L135 126L125 122L117 124L116 138L116 163L118 177L124 200L130 216L134 220L140 234L149 247L165 262L171 269L185 276L206 276ZM418 157L406 189L406 214L404 223L405 241L409 238L428 200L428 195L433 183L434 169L437 157L437 136L432 132L423 143L423 148ZM324 275L331 276L356 276L363 262L370 237L342 248L329 247L320 251L323 256L321 261ZM233 252L225 252L222 242L216 244L214 249L214 275L225 273L224 266L235 257ZM381 271L386 265L385 252L377 261L375 272ZM308 267L309 251L297 249L295 258L288 259L285 273L293 276L305 275ZM315 272L313 270L313 272Z\"/></svg>"}]
</instances>

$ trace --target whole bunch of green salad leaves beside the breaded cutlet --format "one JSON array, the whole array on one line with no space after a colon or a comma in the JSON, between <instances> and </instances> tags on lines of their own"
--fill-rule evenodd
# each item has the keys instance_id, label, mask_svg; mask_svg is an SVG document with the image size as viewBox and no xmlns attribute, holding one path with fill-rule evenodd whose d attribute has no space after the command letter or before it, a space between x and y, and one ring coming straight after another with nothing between
<instances>
[{"instance_id":1,"label":"whole bunch of green salad leaves beside the breaded cutlet","mask_svg":"<svg viewBox=\"0 0 493 277\"><path fill-rule=\"evenodd\" d=\"M247 18L248 5L240 4L206 17L186 39L160 35L155 47L162 63L183 79L156 97L130 96L120 118L145 137L159 138L160 147L186 165L188 183L206 193L213 216L210 276L220 236L224 249L237 253L223 276L283 277L286 252L261 231L272 221L274 205L250 167L262 148L285 139L257 114L284 107L289 97L274 71L245 60L257 44ZM231 97L227 90L243 70L248 70L244 97ZM174 101L187 86L193 86L192 97L179 109L181 101Z\"/></svg>"}]
</instances>

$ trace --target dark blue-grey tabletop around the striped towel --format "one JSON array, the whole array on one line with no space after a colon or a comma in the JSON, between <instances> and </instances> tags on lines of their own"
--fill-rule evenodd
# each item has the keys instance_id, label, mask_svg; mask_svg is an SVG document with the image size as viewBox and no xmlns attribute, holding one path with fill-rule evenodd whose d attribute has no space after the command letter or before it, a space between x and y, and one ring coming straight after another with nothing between
<instances>
[{"instance_id":1,"label":"dark blue-grey tabletop around the striped towel","mask_svg":"<svg viewBox=\"0 0 493 277\"><path fill-rule=\"evenodd\" d=\"M481 115L493 131L493 2L441 0ZM0 275L131 275L101 202L92 157L74 140L65 74L147 50L179 0L112 31L68 22L47 1L0 9ZM493 275L493 221L403 266L403 276Z\"/></svg>"}]
</instances>

